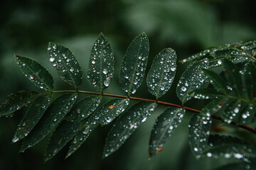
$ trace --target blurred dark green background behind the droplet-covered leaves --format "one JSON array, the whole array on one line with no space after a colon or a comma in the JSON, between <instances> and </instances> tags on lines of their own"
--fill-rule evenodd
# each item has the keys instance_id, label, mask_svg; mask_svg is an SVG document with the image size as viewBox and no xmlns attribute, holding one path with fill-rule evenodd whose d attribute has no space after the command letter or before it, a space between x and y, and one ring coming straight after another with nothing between
<instances>
[{"instance_id":1,"label":"blurred dark green background behind the droplet-covered leaves","mask_svg":"<svg viewBox=\"0 0 256 170\"><path fill-rule=\"evenodd\" d=\"M149 64L164 47L176 50L178 60L213 45L256 40L255 0L13 0L0 2L0 100L19 90L35 90L14 62L14 53L41 62L55 80L55 89L70 89L55 74L48 62L48 42L59 42L70 48L84 71L80 89L91 90L85 79L93 42L101 32L110 40L115 57L115 77L106 91L124 94L119 88L120 63L132 39L142 31L149 36ZM175 86L187 65L178 64L171 91L162 101L178 103ZM147 68L149 69L149 68ZM135 96L153 98L146 82ZM200 103L188 106L201 108ZM0 119L0 169L213 169L233 159L196 160L188 145L187 114L161 153L148 161L147 147L154 120L164 107L151 115L129 140L107 159L102 149L110 125L97 128L78 152L64 160L68 147L43 164L48 139L24 153L18 153L21 142L11 145L11 138L23 110L12 118ZM227 129L225 129L227 130ZM228 128L228 132L232 128ZM240 132L244 137L252 135Z\"/></svg>"}]
</instances>

